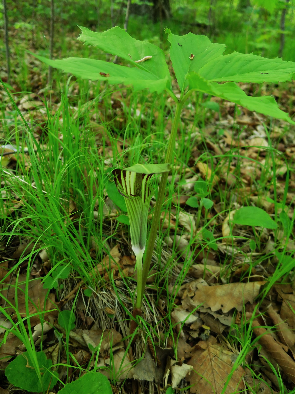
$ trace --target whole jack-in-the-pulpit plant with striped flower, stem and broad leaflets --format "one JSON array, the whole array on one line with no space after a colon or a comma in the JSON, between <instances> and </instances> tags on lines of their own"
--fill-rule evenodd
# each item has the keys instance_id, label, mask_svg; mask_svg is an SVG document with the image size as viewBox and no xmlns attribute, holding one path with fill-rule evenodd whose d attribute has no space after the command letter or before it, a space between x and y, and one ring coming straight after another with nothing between
<instances>
[{"instance_id":1,"label":"whole jack-in-the-pulpit plant with striped flower, stem and broad leaflets","mask_svg":"<svg viewBox=\"0 0 295 394\"><path fill-rule=\"evenodd\" d=\"M168 41L171 44L170 58L181 91L178 99L172 89L171 75L165 61L164 52L158 46L147 41L133 39L125 30L118 26L102 33L92 32L84 27L80 29L82 31L78 38L80 41L118 56L128 64L119 65L103 60L83 58L50 60L41 56L34 56L52 67L70 72L80 78L107 81L109 84L132 85L135 91L149 89L149 91L157 92L158 94L162 91L167 91L177 105L168 143L166 164L172 163L181 109L194 91L221 97L250 111L283 119L295 125L295 122L288 114L278 108L277 102L273 97L248 96L237 84L237 82L259 84L262 82L291 81L295 74L295 63L291 61L283 61L280 58L267 59L262 56L238 52L224 55L226 46L211 43L208 37L204 35L188 33L179 36L172 34L166 28ZM163 173L157 204L146 247L144 264L141 266L142 254L145 248L147 210L152 193L148 184L149 177L152 173L160 172ZM140 170L137 170L137 167L136 170L130 168L125 169L125 171L114 170L116 186L120 193L124 195L126 202L131 226L131 243L137 258L139 288L136 309L140 309L142 303L143 290L149 272L167 178L167 169L163 170L160 167L157 171L149 169L147 172L140 172ZM141 190L140 187L142 188ZM209 201L206 201L204 196L202 198L203 205L207 204L208 206L210 204Z\"/></svg>"}]
</instances>

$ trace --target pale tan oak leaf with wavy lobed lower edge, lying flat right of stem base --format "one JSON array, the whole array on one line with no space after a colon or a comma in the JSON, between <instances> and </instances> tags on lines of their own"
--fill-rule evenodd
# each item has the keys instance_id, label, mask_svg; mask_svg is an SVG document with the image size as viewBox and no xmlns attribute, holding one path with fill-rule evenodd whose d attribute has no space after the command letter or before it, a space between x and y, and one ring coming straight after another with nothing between
<instances>
[{"instance_id":1,"label":"pale tan oak leaf with wavy lobed lower edge, lying flat right of stem base","mask_svg":"<svg viewBox=\"0 0 295 394\"><path fill-rule=\"evenodd\" d=\"M204 308L210 308L212 312L221 309L226 313L232 308L240 311L245 303L253 303L264 283L265 281L257 281L202 286L195 292L192 301L196 307L202 305Z\"/></svg>"}]
</instances>

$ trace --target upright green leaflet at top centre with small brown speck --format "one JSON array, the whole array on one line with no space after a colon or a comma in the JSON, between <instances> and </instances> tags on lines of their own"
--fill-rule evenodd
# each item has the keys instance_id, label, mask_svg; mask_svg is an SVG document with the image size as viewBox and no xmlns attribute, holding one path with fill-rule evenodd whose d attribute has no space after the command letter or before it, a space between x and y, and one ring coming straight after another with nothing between
<instances>
[{"instance_id":1,"label":"upright green leaflet at top centre with small brown speck","mask_svg":"<svg viewBox=\"0 0 295 394\"><path fill-rule=\"evenodd\" d=\"M188 33L175 35L166 29L170 46L170 58L177 82L183 93L187 84L184 83L188 72L198 72L210 60L218 58L225 51L223 44L213 44L205 35ZM191 55L194 55L192 59Z\"/></svg>"}]
</instances>

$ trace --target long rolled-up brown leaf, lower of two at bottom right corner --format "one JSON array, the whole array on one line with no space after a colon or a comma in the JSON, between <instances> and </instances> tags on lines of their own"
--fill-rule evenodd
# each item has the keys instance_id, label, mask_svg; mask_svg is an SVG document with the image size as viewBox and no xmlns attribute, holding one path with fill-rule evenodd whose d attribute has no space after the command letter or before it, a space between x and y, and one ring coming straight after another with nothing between
<instances>
[{"instance_id":1,"label":"long rolled-up brown leaf, lower of two at bottom right corner","mask_svg":"<svg viewBox=\"0 0 295 394\"><path fill-rule=\"evenodd\" d=\"M248 317L248 314L247 314ZM249 313L249 317L252 315ZM252 321L254 334L259 337L258 342L269 352L271 357L278 363L286 375L295 383L295 361L283 350L276 340L261 327L258 320Z\"/></svg>"}]
</instances>

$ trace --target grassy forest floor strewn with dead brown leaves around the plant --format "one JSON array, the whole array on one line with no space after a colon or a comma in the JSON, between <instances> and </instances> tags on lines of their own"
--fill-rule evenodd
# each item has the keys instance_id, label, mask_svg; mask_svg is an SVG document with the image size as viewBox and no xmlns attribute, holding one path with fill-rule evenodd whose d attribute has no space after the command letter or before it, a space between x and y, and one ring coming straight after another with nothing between
<instances>
[{"instance_id":1,"label":"grassy forest floor strewn with dead brown leaves around the plant","mask_svg":"<svg viewBox=\"0 0 295 394\"><path fill-rule=\"evenodd\" d=\"M63 52L95 56L74 36ZM99 370L114 393L295 393L294 126L188 100L131 346L135 257L111 171L164 162L174 102L55 71L48 86L33 56L15 49L12 61L0 88L0 393L26 392L38 363L58 375L43 392ZM241 86L294 115L293 82ZM210 208L193 207L199 181ZM276 228L233 224L245 206ZM5 369L20 354L13 385Z\"/></svg>"}]
</instances>

